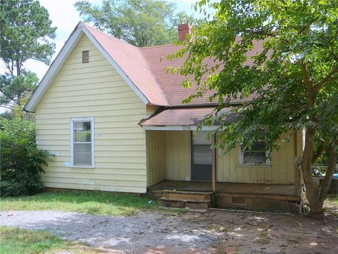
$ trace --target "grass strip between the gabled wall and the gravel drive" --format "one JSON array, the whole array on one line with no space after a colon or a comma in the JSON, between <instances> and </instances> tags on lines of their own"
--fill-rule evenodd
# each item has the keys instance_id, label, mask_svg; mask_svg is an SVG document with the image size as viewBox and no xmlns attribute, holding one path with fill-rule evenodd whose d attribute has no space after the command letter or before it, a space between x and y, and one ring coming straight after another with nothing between
<instances>
[{"instance_id":1,"label":"grass strip between the gabled wall and the gravel drive","mask_svg":"<svg viewBox=\"0 0 338 254\"><path fill-rule=\"evenodd\" d=\"M86 214L132 215L142 210L158 210L149 195L101 191L49 191L33 196L1 198L1 211L60 210Z\"/></svg>"}]
</instances>

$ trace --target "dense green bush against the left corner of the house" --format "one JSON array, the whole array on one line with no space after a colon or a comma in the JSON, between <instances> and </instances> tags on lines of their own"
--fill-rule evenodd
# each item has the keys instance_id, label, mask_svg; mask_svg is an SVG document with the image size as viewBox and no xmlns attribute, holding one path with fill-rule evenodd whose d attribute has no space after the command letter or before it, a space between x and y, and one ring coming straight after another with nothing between
<instances>
[{"instance_id":1,"label":"dense green bush against the left corner of the house","mask_svg":"<svg viewBox=\"0 0 338 254\"><path fill-rule=\"evenodd\" d=\"M20 117L1 119L1 197L43 191L39 173L51 154L37 148L35 126Z\"/></svg>"}]
</instances>

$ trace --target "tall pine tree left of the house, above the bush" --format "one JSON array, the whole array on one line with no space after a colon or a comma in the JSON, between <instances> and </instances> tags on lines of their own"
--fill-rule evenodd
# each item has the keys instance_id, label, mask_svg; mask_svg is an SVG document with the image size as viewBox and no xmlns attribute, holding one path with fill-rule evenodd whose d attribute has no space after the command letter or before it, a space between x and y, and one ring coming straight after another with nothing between
<instances>
[{"instance_id":1,"label":"tall pine tree left of the house, above the bush","mask_svg":"<svg viewBox=\"0 0 338 254\"><path fill-rule=\"evenodd\" d=\"M25 71L23 63L28 59L50 63L55 44L49 39L54 39L56 28L39 1L1 0L0 7L0 56L8 71L1 75L1 106L13 106L37 85L36 75Z\"/></svg>"}]
</instances>

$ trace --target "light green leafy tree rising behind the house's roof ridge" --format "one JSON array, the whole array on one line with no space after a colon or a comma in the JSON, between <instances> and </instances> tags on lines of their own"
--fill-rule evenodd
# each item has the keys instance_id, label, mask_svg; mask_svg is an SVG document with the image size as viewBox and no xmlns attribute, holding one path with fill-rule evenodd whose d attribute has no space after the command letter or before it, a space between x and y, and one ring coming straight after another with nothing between
<instances>
[{"instance_id":1,"label":"light green leafy tree rising behind the house's roof ridge","mask_svg":"<svg viewBox=\"0 0 338 254\"><path fill-rule=\"evenodd\" d=\"M85 22L137 47L172 43L177 25L192 20L168 1L103 0L101 6L77 1L75 8Z\"/></svg>"}]
</instances>

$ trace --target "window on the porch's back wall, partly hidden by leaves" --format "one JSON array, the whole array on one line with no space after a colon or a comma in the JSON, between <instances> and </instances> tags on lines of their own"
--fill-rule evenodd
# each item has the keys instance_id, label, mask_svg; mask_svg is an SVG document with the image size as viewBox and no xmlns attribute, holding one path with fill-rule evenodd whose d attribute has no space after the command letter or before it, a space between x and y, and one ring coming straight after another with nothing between
<instances>
[{"instance_id":1,"label":"window on the porch's back wall, partly hidden by leaves","mask_svg":"<svg viewBox=\"0 0 338 254\"><path fill-rule=\"evenodd\" d=\"M268 159L268 151L264 141L254 141L251 149L244 150L239 148L239 164L242 166L270 166L271 162Z\"/></svg>"}]
</instances>

